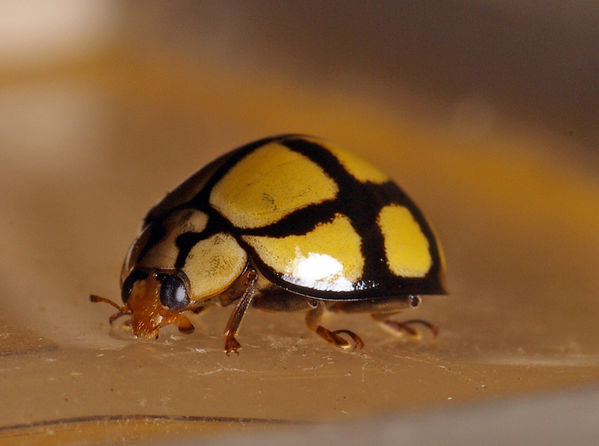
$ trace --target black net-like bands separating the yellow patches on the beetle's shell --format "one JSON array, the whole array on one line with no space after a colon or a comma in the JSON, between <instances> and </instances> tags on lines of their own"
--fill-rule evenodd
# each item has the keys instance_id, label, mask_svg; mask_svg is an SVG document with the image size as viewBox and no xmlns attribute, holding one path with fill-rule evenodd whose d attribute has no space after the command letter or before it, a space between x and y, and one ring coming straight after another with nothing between
<instances>
[{"instance_id":1,"label":"black net-like bands separating the yellow patches on the beetle's shell","mask_svg":"<svg viewBox=\"0 0 599 446\"><path fill-rule=\"evenodd\" d=\"M161 224L164 218L179 209L193 208L208 215L208 225L201 233L188 232L181 234L177 238L176 245L179 253L175 264L176 268L184 267L190 251L200 240L205 240L218 232L225 232L236 238L241 247L246 250L256 268L268 280L293 293L327 300L359 300L367 297L376 298L402 294L444 294L443 284L439 282L441 262L437 246L434 242L434 234L422 212L412 200L399 186L391 181L383 184L362 183L358 181L326 147L306 138L309 137L295 134L264 138L221 156L194 174L180 187L193 187L195 181L204 181L203 177L205 176L208 176L208 178L205 179L205 185L193 198L172 208L164 206L164 202L168 201L169 197L176 196L175 194L179 190L177 188L171 194L167 195L163 202L155 206L146 216L146 223L152 224L152 232L148 243L140 255L140 259L143 254L166 235ZM308 205L263 227L249 229L236 228L216 209L210 206L210 193L227 172L244 157L260 147L275 141L290 150L306 156L312 162L319 165L337 183L339 194L332 200ZM433 264L427 275L423 278L398 277L388 268L384 237L378 227L377 218L384 206L394 203L407 207L420 225L427 239L432 241L429 249ZM269 237L303 235L314 230L319 224L332 221L336 214L343 214L349 217L354 229L362 239L361 247L365 259L364 274L361 280L354 284L354 291L322 291L289 283L283 279L280 273L266 265L253 247L247 244L242 238L243 235Z\"/></svg>"}]
</instances>

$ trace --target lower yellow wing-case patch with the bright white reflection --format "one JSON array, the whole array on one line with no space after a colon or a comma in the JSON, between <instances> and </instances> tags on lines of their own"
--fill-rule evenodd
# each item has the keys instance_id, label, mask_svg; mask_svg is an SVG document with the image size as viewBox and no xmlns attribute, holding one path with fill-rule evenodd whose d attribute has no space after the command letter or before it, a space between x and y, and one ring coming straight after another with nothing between
<instances>
[{"instance_id":1,"label":"lower yellow wing-case patch with the bright white reflection","mask_svg":"<svg viewBox=\"0 0 599 446\"><path fill-rule=\"evenodd\" d=\"M260 258L285 280L317 290L352 291L362 276L361 239L349 218L337 214L332 222L305 235L243 236Z\"/></svg>"}]
</instances>

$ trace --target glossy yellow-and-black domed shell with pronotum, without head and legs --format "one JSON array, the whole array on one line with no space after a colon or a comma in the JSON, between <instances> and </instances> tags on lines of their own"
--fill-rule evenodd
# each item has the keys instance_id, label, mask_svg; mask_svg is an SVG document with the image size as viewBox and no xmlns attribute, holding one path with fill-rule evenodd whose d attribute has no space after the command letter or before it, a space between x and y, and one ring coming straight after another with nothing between
<instances>
[{"instance_id":1,"label":"glossy yellow-and-black domed shell with pronotum, without head and legs","mask_svg":"<svg viewBox=\"0 0 599 446\"><path fill-rule=\"evenodd\" d=\"M444 292L420 210L371 164L315 137L267 137L221 156L146 222L125 270L182 271L192 303L226 290L248 260L275 285L321 299Z\"/></svg>"}]
</instances>

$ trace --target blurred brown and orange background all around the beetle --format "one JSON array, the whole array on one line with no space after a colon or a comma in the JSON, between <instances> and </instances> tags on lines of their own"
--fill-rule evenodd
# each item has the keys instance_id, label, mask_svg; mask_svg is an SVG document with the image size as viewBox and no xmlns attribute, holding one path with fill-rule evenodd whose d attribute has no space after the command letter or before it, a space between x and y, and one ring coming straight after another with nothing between
<instances>
[{"instance_id":1,"label":"blurred brown and orange background all around the beetle","mask_svg":"<svg viewBox=\"0 0 599 446\"><path fill-rule=\"evenodd\" d=\"M347 419L376 435L383 413L416 429L407 413L572 404L599 379L598 121L591 0L2 2L0 439ZM228 309L185 338L109 328L87 296L118 298L145 212L214 157L284 132L381 166L428 215L450 295L418 317L440 338L331 320L366 341L345 353L301 315L253 312L227 358Z\"/></svg>"}]
</instances>

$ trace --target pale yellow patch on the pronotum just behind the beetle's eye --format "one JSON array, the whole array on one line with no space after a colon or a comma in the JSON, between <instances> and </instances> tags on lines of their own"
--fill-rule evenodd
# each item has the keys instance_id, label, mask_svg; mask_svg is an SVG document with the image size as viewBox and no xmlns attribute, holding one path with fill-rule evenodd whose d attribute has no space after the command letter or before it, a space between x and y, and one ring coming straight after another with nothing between
<instances>
[{"instance_id":1,"label":"pale yellow patch on the pronotum just behind the beetle's eye","mask_svg":"<svg viewBox=\"0 0 599 446\"><path fill-rule=\"evenodd\" d=\"M246 263L245 251L229 234L218 233L196 243L183 267L192 300L225 290L241 275Z\"/></svg>"}]
</instances>

